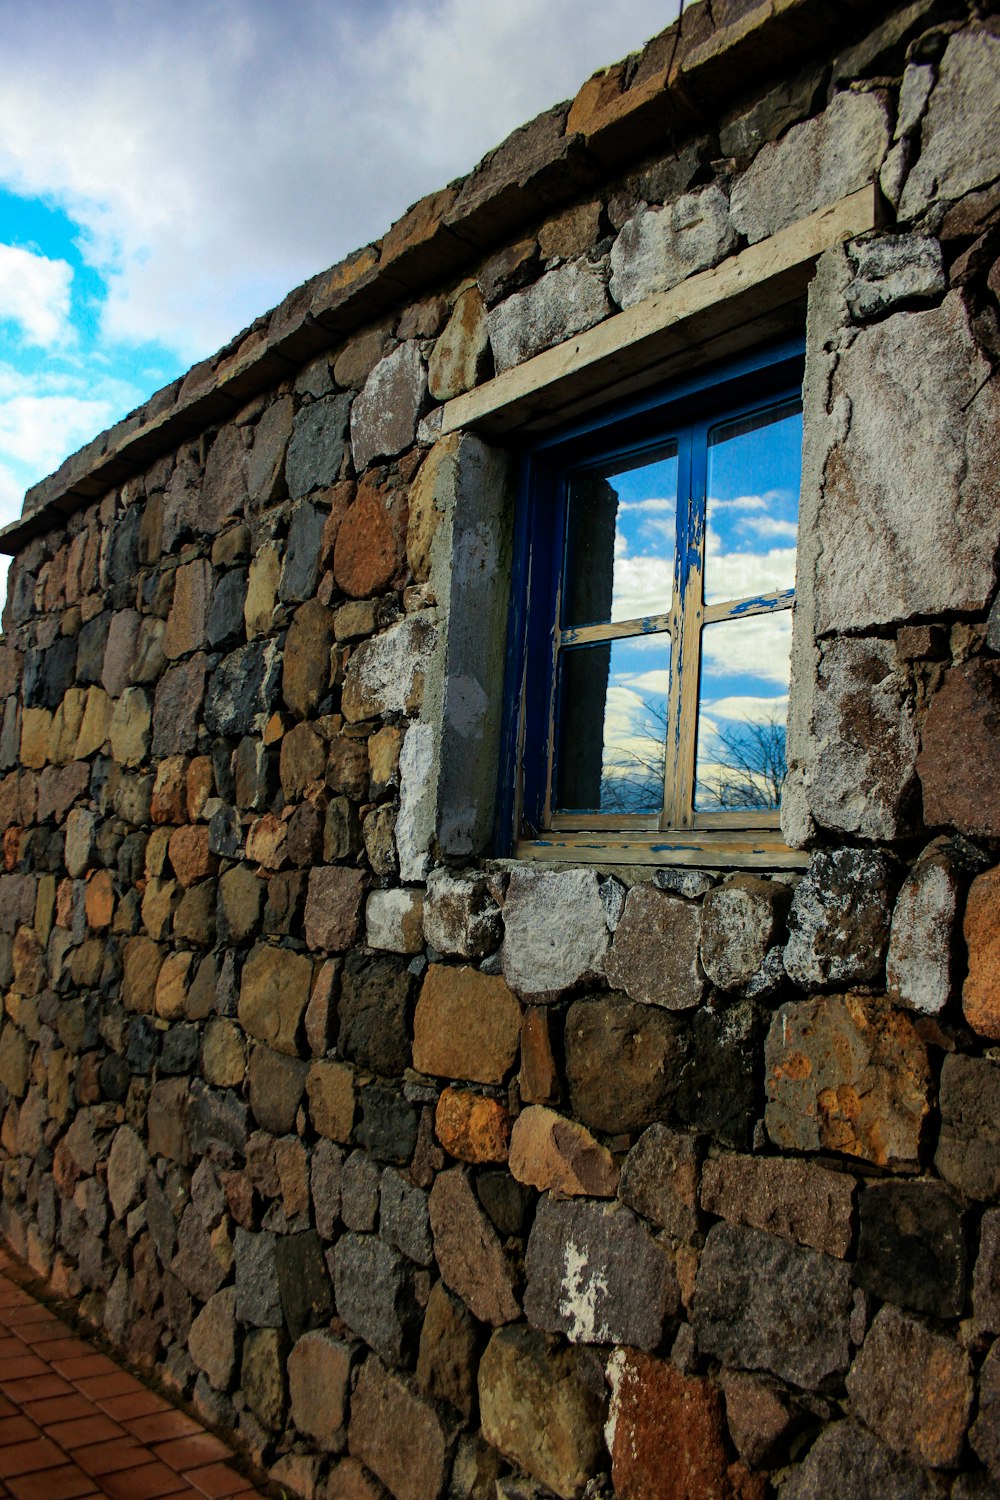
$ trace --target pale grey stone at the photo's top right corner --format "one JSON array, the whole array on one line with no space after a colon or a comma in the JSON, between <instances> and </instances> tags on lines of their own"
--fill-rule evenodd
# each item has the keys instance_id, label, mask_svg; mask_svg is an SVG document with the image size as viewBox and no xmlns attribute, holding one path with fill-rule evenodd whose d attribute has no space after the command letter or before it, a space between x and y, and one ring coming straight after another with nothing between
<instances>
[{"instance_id":1,"label":"pale grey stone at the photo's top right corner","mask_svg":"<svg viewBox=\"0 0 1000 1500\"><path fill-rule=\"evenodd\" d=\"M921 128L921 154L900 201L903 218L1000 177L999 72L1000 38L985 28L949 38Z\"/></svg>"}]
</instances>

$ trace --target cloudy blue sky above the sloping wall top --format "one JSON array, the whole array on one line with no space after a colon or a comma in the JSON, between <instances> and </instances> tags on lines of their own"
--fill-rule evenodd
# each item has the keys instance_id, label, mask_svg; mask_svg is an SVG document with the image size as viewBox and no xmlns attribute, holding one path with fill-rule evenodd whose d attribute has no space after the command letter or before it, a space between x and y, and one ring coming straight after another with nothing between
<instances>
[{"instance_id":1,"label":"cloudy blue sky above the sloping wall top","mask_svg":"<svg viewBox=\"0 0 1000 1500\"><path fill-rule=\"evenodd\" d=\"M0 522L676 9L0 0Z\"/></svg>"}]
</instances>

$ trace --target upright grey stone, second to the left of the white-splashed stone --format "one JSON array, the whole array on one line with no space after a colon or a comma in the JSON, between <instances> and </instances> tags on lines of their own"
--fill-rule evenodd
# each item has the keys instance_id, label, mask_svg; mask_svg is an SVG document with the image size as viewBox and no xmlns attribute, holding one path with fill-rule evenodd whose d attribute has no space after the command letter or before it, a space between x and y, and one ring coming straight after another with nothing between
<instances>
[{"instance_id":1,"label":"upright grey stone, second to the left of the white-splashed stone","mask_svg":"<svg viewBox=\"0 0 1000 1500\"><path fill-rule=\"evenodd\" d=\"M388 1365L417 1359L414 1266L376 1234L342 1234L333 1252L337 1312Z\"/></svg>"}]
</instances>

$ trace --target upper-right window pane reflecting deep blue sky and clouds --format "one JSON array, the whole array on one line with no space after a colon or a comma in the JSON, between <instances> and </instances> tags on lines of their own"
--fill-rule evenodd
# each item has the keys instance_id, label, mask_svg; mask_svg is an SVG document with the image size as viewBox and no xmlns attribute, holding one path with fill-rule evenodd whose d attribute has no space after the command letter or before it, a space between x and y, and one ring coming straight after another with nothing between
<instances>
[{"instance_id":1,"label":"upper-right window pane reflecting deep blue sky and clouds","mask_svg":"<svg viewBox=\"0 0 1000 1500\"><path fill-rule=\"evenodd\" d=\"M802 404L709 432L705 602L795 588L802 476Z\"/></svg>"}]
</instances>

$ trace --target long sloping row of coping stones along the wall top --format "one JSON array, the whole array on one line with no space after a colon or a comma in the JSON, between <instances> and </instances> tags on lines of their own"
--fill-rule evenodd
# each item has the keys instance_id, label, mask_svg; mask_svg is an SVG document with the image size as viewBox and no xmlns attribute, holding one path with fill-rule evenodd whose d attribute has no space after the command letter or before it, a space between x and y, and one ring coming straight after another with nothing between
<instances>
[{"instance_id":1,"label":"long sloping row of coping stones along the wall top","mask_svg":"<svg viewBox=\"0 0 1000 1500\"><path fill-rule=\"evenodd\" d=\"M277 308L112 428L72 453L0 528L15 555L156 458L232 417L312 356L405 298L457 273L490 246L571 202L610 171L684 140L802 58L844 45L894 0L697 0L666 32L594 74L570 104L537 116L465 177L429 194L384 238L297 286ZM624 315L622 315L624 316Z\"/></svg>"}]
</instances>

